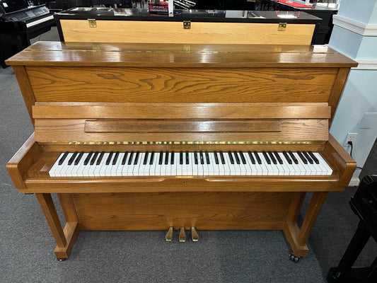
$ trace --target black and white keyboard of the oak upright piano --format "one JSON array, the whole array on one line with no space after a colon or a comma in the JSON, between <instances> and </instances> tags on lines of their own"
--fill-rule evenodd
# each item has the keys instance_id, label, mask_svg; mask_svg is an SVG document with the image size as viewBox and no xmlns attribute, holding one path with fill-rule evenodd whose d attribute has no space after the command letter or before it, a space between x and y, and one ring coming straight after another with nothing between
<instances>
[{"instance_id":1,"label":"black and white keyboard of the oak upright piano","mask_svg":"<svg viewBox=\"0 0 377 283\"><path fill-rule=\"evenodd\" d=\"M331 175L332 169L311 151L66 151L49 173L51 177Z\"/></svg>"}]
</instances>

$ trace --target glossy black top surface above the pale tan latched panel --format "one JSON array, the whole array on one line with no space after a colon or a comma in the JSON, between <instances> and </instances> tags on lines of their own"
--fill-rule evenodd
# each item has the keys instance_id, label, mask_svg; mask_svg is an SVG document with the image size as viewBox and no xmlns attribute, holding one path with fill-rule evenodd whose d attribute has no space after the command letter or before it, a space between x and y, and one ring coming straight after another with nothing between
<instances>
[{"instance_id":1,"label":"glossy black top surface above the pale tan latched panel","mask_svg":"<svg viewBox=\"0 0 377 283\"><path fill-rule=\"evenodd\" d=\"M320 23L322 19L299 11L181 10L173 16L149 13L148 9L132 8L70 8L55 13L57 19L118 21L196 21L227 23Z\"/></svg>"}]
</instances>

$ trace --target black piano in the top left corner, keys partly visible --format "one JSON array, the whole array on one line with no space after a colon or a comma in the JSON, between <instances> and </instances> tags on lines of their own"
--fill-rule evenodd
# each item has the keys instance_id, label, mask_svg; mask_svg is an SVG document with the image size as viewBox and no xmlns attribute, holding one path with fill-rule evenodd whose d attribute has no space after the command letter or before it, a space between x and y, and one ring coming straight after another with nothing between
<instances>
[{"instance_id":1,"label":"black piano in the top left corner, keys partly visible","mask_svg":"<svg viewBox=\"0 0 377 283\"><path fill-rule=\"evenodd\" d=\"M54 16L42 1L0 0L0 61L30 45L30 39L47 32Z\"/></svg>"}]
</instances>

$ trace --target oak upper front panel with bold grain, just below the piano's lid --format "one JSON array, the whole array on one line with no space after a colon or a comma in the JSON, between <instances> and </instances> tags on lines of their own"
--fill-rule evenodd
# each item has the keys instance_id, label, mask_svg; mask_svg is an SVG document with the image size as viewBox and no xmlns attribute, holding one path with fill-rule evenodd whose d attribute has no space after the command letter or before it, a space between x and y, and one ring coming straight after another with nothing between
<instances>
[{"instance_id":1,"label":"oak upper front panel with bold grain, just below the piano's lid","mask_svg":"<svg viewBox=\"0 0 377 283\"><path fill-rule=\"evenodd\" d=\"M337 69L27 67L37 101L326 102ZM57 91L59 90L59 91Z\"/></svg>"}]
</instances>

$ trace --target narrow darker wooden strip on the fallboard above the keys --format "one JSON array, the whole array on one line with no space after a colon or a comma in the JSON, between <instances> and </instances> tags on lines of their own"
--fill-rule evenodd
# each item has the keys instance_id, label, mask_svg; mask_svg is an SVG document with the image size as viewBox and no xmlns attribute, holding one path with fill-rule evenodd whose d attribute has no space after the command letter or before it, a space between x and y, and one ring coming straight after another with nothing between
<instances>
[{"instance_id":1,"label":"narrow darker wooden strip on the fallboard above the keys","mask_svg":"<svg viewBox=\"0 0 377 283\"><path fill-rule=\"evenodd\" d=\"M86 120L84 132L281 132L279 120Z\"/></svg>"}]
</instances>

